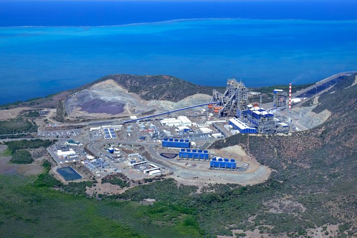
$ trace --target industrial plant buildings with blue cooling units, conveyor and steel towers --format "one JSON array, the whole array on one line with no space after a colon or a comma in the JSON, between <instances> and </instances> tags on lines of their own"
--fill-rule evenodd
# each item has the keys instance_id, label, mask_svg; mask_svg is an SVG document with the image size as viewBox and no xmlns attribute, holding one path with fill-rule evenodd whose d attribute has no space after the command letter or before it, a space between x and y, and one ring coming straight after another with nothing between
<instances>
[{"instance_id":1,"label":"industrial plant buildings with blue cooling units, conveyor and steel towers","mask_svg":"<svg viewBox=\"0 0 357 238\"><path fill-rule=\"evenodd\" d=\"M140 180L189 168L189 173L220 173L220 178L228 178L231 173L245 173L250 164L208 149L212 142L235 134L271 135L295 130L289 113L291 88L289 101L282 89L271 94L271 102L262 104L260 95L258 104L254 99L259 93L248 91L242 81L228 79L226 89L214 89L205 103L157 110L143 117L131 115L114 124L95 123L87 132L89 144L83 143L88 154L81 143L70 140L65 145L73 149L58 150L53 156L60 163L79 160L96 177L123 173Z\"/></svg>"}]
</instances>

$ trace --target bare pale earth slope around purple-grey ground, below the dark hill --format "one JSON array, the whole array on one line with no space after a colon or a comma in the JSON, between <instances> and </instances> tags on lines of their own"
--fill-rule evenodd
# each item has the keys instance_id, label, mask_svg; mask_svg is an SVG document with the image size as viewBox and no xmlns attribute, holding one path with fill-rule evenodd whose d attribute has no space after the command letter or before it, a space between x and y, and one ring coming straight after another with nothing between
<instances>
[{"instance_id":1,"label":"bare pale earth slope around purple-grey ground, below the dark hill","mask_svg":"<svg viewBox=\"0 0 357 238\"><path fill-rule=\"evenodd\" d=\"M211 96L209 95L194 94L178 102L169 100L146 101L142 99L142 96L128 92L113 79L107 79L67 97L64 100L64 107L70 118L111 118L140 115L152 109L167 111L206 103L210 100Z\"/></svg>"}]
</instances>

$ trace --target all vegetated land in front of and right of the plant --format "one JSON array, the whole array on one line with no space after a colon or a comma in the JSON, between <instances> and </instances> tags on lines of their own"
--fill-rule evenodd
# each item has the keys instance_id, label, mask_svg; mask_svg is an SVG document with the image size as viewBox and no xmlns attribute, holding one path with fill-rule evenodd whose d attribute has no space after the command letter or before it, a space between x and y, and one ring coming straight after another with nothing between
<instances>
[{"instance_id":1,"label":"all vegetated land in front of and right of the plant","mask_svg":"<svg viewBox=\"0 0 357 238\"><path fill-rule=\"evenodd\" d=\"M94 199L85 192L97 186L94 181L64 185L49 170L37 178L0 175L0 237L353 237L356 76L319 97L314 111L332 114L316 128L291 136L235 135L212 144L240 144L274 169L263 183L198 190L160 178ZM147 199L155 202L145 205Z\"/></svg>"}]
</instances>

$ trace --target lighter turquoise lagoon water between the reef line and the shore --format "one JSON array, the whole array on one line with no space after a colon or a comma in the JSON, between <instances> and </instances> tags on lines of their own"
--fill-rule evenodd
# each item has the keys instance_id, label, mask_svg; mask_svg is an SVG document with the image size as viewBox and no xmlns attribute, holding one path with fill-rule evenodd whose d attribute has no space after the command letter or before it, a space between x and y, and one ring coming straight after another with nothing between
<instances>
[{"instance_id":1,"label":"lighter turquoise lagoon water between the reef line and the shore","mask_svg":"<svg viewBox=\"0 0 357 238\"><path fill-rule=\"evenodd\" d=\"M104 27L0 27L0 103L114 73L202 85L313 82L357 70L357 20L197 19Z\"/></svg>"}]
</instances>

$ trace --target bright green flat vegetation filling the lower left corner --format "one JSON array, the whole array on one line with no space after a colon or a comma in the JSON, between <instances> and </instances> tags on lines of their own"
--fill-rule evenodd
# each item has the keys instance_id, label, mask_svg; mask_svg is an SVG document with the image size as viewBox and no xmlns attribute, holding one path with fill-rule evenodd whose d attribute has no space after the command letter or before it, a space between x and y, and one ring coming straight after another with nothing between
<instances>
[{"instance_id":1,"label":"bright green flat vegetation filling the lower left corner","mask_svg":"<svg viewBox=\"0 0 357 238\"><path fill-rule=\"evenodd\" d=\"M44 167L44 173L33 182L0 175L1 238L49 234L52 238L152 238L168 234L172 238L202 237L193 216L177 206L91 199L78 191L93 182L63 185L48 173L48 162Z\"/></svg>"}]
</instances>

